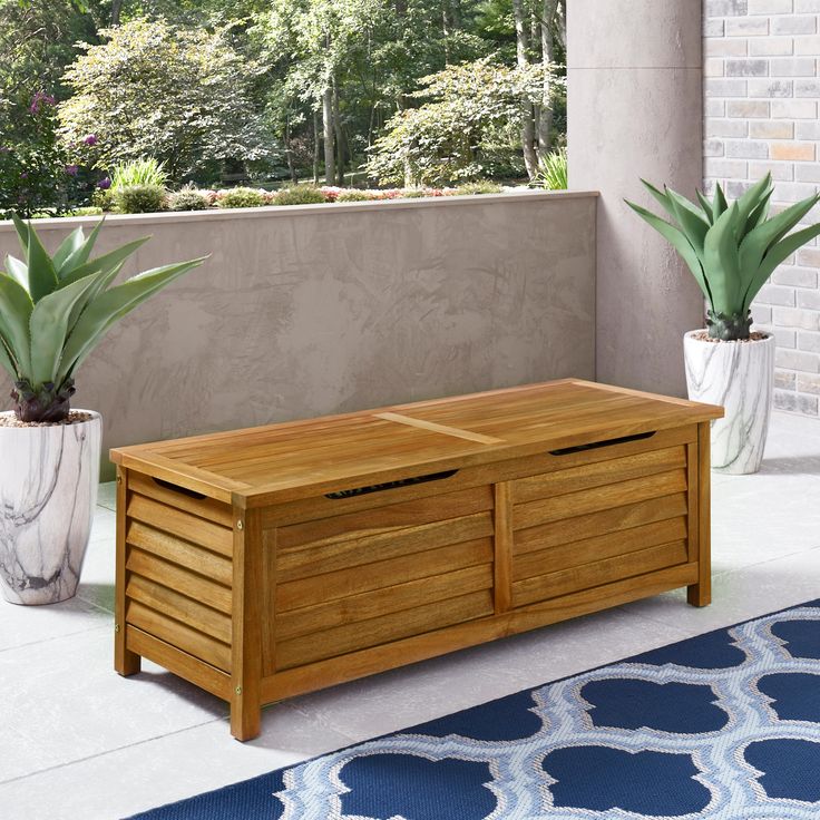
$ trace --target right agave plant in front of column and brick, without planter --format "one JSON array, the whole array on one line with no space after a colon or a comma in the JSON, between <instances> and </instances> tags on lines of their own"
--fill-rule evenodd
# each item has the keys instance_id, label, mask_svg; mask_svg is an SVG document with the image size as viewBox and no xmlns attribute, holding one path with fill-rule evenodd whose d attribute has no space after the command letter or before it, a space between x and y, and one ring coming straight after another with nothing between
<instances>
[{"instance_id":1,"label":"right agave plant in front of column and brick, without planter","mask_svg":"<svg viewBox=\"0 0 820 820\"><path fill-rule=\"evenodd\" d=\"M676 224L635 203L626 204L672 244L692 271L709 302L709 335L749 339L752 300L781 262L820 235L820 224L790 233L820 202L820 195L769 217L770 174L731 204L720 185L712 201L699 191L697 203L693 203L666 186L658 191L641 182Z\"/></svg>"}]
</instances>

